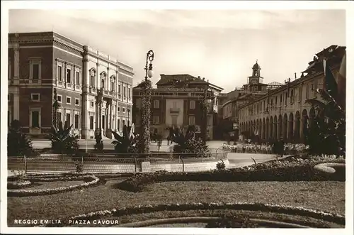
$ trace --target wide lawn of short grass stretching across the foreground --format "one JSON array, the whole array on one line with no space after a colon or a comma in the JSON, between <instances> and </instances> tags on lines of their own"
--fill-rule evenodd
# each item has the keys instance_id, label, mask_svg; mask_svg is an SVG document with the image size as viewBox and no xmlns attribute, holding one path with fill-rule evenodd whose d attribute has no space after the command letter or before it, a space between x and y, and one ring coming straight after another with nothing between
<instances>
[{"instance_id":1,"label":"wide lawn of short grass stretching across the foreground","mask_svg":"<svg viewBox=\"0 0 354 235\"><path fill-rule=\"evenodd\" d=\"M183 202L263 202L345 212L345 182L161 182L135 193L119 190L121 181L56 195L8 197L8 225L18 218L58 219L138 204Z\"/></svg>"}]
</instances>

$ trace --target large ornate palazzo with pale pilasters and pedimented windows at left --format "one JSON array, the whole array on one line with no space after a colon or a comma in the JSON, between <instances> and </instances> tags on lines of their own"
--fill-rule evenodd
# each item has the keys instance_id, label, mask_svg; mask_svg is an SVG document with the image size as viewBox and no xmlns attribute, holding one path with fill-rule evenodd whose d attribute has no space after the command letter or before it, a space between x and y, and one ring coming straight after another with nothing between
<instances>
[{"instance_id":1,"label":"large ornate palazzo with pale pilasters and pedimented windows at left","mask_svg":"<svg viewBox=\"0 0 354 235\"><path fill-rule=\"evenodd\" d=\"M8 34L8 125L46 138L53 119L80 138L103 138L131 119L132 67L59 33ZM60 104L57 114L54 96Z\"/></svg>"}]
</instances>

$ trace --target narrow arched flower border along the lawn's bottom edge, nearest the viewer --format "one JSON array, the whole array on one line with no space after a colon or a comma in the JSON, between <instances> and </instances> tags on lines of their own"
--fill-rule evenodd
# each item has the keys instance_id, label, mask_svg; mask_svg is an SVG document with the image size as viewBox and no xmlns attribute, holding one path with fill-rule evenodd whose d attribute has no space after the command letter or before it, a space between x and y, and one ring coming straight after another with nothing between
<instances>
[{"instance_id":1,"label":"narrow arched flower border along the lawn's bottom edge, nearest the viewer","mask_svg":"<svg viewBox=\"0 0 354 235\"><path fill-rule=\"evenodd\" d=\"M149 212L161 211L188 211L188 210L216 210L216 209L234 209L244 211L256 212L275 212L279 214L290 214L301 217L310 217L320 219L326 222L333 222L336 224L345 225L346 218L340 214L329 212L321 212L314 209L305 209L303 207L290 207L277 204L261 204L253 202L236 202L236 203L183 203L183 204L147 204L138 205L135 207L122 207L119 209L102 210L97 212L90 212L88 214L79 214L74 217L60 219L62 224L55 224L52 226L68 226L69 221L87 220L87 219L101 219L102 217L120 217L126 214L143 214ZM42 226L50 226L45 224ZM124 226L124 224L123 224Z\"/></svg>"}]
</instances>

